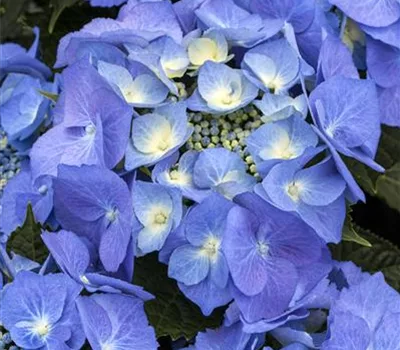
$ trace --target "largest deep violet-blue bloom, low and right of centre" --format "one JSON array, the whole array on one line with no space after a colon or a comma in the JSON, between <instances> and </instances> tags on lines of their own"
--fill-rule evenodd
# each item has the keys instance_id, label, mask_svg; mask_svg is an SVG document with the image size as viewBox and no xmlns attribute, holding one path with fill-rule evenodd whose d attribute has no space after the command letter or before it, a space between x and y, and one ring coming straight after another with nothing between
<instances>
[{"instance_id":1,"label":"largest deep violet-blue bloom, low and right of centre","mask_svg":"<svg viewBox=\"0 0 400 350\"><path fill-rule=\"evenodd\" d=\"M248 322L281 315L295 295L297 267L312 265L323 242L294 215L280 211L255 194L242 194L228 214L222 242L236 288L234 299Z\"/></svg>"}]
</instances>

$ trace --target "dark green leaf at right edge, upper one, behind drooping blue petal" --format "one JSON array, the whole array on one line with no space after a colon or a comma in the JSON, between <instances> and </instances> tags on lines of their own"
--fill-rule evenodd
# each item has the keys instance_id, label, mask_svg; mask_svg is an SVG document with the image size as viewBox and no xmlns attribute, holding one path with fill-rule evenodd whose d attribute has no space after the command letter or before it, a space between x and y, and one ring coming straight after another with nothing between
<instances>
[{"instance_id":1,"label":"dark green leaf at right edge, upper one, behind drooping blue petal","mask_svg":"<svg viewBox=\"0 0 400 350\"><path fill-rule=\"evenodd\" d=\"M382 127L376 161L386 172L380 174L350 158L345 162L359 185L400 212L400 128Z\"/></svg>"}]
</instances>

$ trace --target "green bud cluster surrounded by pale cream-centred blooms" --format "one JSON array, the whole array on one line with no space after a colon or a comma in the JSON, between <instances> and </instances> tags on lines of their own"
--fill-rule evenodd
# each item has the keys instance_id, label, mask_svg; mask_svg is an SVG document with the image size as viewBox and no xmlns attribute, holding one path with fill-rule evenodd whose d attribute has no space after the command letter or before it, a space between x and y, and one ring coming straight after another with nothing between
<instances>
[{"instance_id":1,"label":"green bud cluster surrounded by pale cream-centred blooms","mask_svg":"<svg viewBox=\"0 0 400 350\"><path fill-rule=\"evenodd\" d=\"M246 151L246 138L263 123L261 116L254 106L247 106L223 116L191 112L189 122L194 127L194 132L187 141L186 148L201 151L224 147L239 154L249 173L258 177L253 159Z\"/></svg>"}]
</instances>

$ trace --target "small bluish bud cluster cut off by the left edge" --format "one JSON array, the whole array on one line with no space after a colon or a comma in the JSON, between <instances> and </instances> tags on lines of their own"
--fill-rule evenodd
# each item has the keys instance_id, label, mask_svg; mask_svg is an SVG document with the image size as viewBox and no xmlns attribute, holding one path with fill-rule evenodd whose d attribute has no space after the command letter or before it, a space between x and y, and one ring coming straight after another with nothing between
<instances>
[{"instance_id":1,"label":"small bluish bud cluster cut off by the left edge","mask_svg":"<svg viewBox=\"0 0 400 350\"><path fill-rule=\"evenodd\" d=\"M0 130L0 198L7 182L19 173L20 167L21 159L8 144L5 132Z\"/></svg>"}]
</instances>

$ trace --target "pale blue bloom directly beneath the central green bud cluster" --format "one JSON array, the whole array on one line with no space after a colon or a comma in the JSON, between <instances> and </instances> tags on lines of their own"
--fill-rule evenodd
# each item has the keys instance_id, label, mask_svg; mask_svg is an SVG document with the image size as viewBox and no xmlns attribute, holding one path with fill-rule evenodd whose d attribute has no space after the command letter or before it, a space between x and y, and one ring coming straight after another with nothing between
<instances>
[{"instance_id":1,"label":"pale blue bloom directly beneath the central green bud cluster","mask_svg":"<svg viewBox=\"0 0 400 350\"><path fill-rule=\"evenodd\" d=\"M200 153L193 168L193 181L197 188L211 189L229 199L251 192L256 183L240 156L225 148L208 148Z\"/></svg>"}]
</instances>

